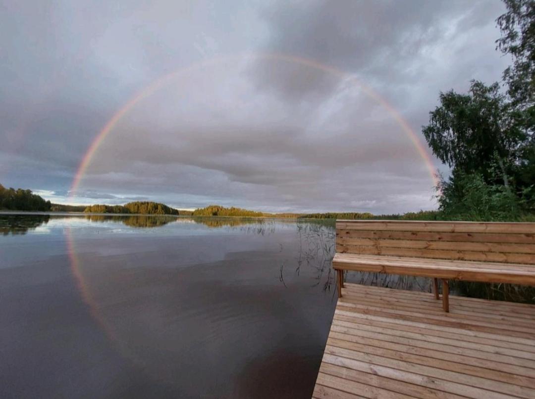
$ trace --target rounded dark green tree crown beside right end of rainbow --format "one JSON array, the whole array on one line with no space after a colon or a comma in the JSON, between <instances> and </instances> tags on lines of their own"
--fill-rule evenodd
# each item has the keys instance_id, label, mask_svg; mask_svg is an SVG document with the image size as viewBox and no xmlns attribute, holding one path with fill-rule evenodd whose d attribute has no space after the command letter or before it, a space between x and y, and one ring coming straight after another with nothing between
<instances>
[{"instance_id":1,"label":"rounded dark green tree crown beside right end of rainbow","mask_svg":"<svg viewBox=\"0 0 535 399\"><path fill-rule=\"evenodd\" d=\"M498 83L485 86L472 81L467 94L440 93L440 106L430 112L422 132L433 153L461 173L479 173L486 182L496 179L488 172L499 166L505 186L517 165L519 150L529 143L523 120L513 111Z\"/></svg>"}]
</instances>

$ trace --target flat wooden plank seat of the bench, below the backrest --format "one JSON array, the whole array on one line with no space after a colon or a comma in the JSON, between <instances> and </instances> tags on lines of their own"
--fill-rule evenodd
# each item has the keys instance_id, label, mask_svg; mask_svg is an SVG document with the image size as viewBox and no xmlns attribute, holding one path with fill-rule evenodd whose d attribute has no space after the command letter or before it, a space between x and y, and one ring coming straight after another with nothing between
<instances>
[{"instance_id":1,"label":"flat wooden plank seat of the bench, below the backrest","mask_svg":"<svg viewBox=\"0 0 535 399\"><path fill-rule=\"evenodd\" d=\"M333 269L451 280L535 285L535 265L337 253Z\"/></svg>"}]
</instances>

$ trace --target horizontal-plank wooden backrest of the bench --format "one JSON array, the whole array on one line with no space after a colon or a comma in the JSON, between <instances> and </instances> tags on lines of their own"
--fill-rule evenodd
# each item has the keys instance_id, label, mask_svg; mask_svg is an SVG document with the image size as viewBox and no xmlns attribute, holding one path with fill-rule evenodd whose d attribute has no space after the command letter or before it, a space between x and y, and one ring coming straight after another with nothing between
<instances>
[{"instance_id":1,"label":"horizontal-plank wooden backrest of the bench","mask_svg":"<svg viewBox=\"0 0 535 399\"><path fill-rule=\"evenodd\" d=\"M535 264L535 223L338 220L336 251Z\"/></svg>"}]
</instances>

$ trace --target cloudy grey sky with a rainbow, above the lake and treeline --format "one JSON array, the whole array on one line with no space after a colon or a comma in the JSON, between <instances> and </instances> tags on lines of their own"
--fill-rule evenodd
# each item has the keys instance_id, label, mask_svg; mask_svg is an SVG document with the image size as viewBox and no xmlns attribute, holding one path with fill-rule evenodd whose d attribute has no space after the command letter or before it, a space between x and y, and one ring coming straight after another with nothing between
<instances>
[{"instance_id":1,"label":"cloudy grey sky with a rainbow, above the lake and treeline","mask_svg":"<svg viewBox=\"0 0 535 399\"><path fill-rule=\"evenodd\" d=\"M422 126L440 91L501 79L504 11L499 0L0 2L0 183L65 204L434 209L432 171L448 168Z\"/></svg>"}]
</instances>

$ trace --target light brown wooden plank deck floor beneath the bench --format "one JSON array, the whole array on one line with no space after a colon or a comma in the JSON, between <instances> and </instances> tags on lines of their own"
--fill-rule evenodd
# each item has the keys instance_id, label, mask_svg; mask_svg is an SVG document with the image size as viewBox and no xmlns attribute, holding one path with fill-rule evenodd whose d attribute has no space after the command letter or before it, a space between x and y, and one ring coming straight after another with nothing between
<instances>
[{"instance_id":1,"label":"light brown wooden plank deck floor beneath the bench","mask_svg":"<svg viewBox=\"0 0 535 399\"><path fill-rule=\"evenodd\" d=\"M314 398L535 398L535 306L345 284Z\"/></svg>"}]
</instances>

